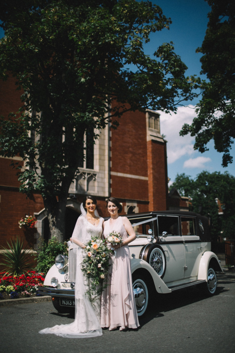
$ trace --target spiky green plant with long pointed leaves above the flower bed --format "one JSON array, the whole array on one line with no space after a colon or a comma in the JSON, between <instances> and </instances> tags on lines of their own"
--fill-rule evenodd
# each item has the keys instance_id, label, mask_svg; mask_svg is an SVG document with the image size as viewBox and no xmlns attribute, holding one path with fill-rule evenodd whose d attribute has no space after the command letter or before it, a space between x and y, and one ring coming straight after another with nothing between
<instances>
[{"instance_id":1,"label":"spiky green plant with long pointed leaves above the flower bed","mask_svg":"<svg viewBox=\"0 0 235 353\"><path fill-rule=\"evenodd\" d=\"M3 271L8 275L19 276L32 269L32 264L29 261L29 250L23 249L24 241L20 238L11 239L11 245L7 242L9 249L2 246L4 252L1 257L4 262L0 265L5 266Z\"/></svg>"}]
</instances>

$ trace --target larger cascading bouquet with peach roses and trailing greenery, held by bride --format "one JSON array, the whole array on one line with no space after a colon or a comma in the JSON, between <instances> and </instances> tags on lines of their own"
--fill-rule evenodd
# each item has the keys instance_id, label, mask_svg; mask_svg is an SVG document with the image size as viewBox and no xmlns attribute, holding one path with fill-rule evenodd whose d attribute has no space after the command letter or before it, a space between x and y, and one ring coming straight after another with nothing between
<instances>
[{"instance_id":1,"label":"larger cascading bouquet with peach roses and trailing greenery, held by bride","mask_svg":"<svg viewBox=\"0 0 235 353\"><path fill-rule=\"evenodd\" d=\"M92 298L93 295L101 294L107 287L103 282L109 273L111 250L105 240L92 237L83 251L85 257L82 261L82 272L89 279L91 291L87 294Z\"/></svg>"}]
</instances>

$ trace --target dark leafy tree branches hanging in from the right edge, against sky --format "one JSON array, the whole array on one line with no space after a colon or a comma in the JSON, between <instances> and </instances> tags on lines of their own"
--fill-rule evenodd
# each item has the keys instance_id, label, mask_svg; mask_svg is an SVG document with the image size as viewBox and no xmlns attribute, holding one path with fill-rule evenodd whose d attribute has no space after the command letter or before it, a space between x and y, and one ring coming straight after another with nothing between
<instances>
[{"instance_id":1,"label":"dark leafy tree branches hanging in from the right edge, against sky","mask_svg":"<svg viewBox=\"0 0 235 353\"><path fill-rule=\"evenodd\" d=\"M196 106L196 118L185 124L181 136L195 136L194 149L208 150L206 144L213 139L215 149L223 153L222 166L232 163L231 145L235 138L235 3L233 0L205 0L211 6L209 22L200 59L202 99Z\"/></svg>"}]
</instances>

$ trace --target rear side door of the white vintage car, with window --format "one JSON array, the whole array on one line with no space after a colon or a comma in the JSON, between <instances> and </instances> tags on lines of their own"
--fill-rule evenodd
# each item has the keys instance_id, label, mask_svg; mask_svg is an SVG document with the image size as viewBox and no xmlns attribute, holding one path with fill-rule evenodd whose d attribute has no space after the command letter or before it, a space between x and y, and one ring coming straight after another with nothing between
<instances>
[{"instance_id":1,"label":"rear side door of the white vintage car, with window","mask_svg":"<svg viewBox=\"0 0 235 353\"><path fill-rule=\"evenodd\" d=\"M197 235L196 218L180 217L181 235L185 248L185 278L197 277L200 259L202 257L202 242Z\"/></svg>"}]
</instances>

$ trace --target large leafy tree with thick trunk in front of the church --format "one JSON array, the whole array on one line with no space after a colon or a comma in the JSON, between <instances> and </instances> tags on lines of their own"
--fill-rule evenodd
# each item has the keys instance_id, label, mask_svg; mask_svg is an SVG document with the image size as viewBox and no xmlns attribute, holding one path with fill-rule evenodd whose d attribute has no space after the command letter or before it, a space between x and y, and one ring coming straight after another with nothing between
<instances>
[{"instance_id":1,"label":"large leafy tree with thick trunk in front of the church","mask_svg":"<svg viewBox=\"0 0 235 353\"><path fill-rule=\"evenodd\" d=\"M0 20L0 77L11 72L24 90L19 114L1 120L0 154L22 158L20 191L42 194L50 234L62 240L84 134L117 125L127 110L174 112L195 84L172 43L155 59L144 54L149 35L171 23L151 2L7 0Z\"/></svg>"}]
</instances>

